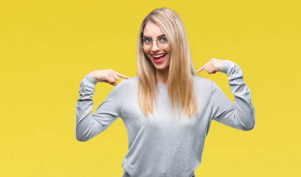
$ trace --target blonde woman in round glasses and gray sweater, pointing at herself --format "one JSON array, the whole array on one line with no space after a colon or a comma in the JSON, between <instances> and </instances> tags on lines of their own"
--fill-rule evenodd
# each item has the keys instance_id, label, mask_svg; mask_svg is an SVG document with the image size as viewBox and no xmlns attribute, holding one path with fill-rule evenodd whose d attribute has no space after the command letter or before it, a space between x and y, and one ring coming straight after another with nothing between
<instances>
[{"instance_id":1,"label":"blonde woman in round glasses and gray sweater, pointing at herself","mask_svg":"<svg viewBox=\"0 0 301 177\"><path fill-rule=\"evenodd\" d=\"M212 58L197 71L226 73L235 104L213 80L199 77L184 24L169 8L150 12L138 36L137 76L103 69L81 81L76 138L87 141L121 117L129 141L122 176L195 176L212 120L240 130L254 128L250 89L230 60ZM119 77L125 79L117 84ZM92 114L97 82L115 87Z\"/></svg>"}]
</instances>

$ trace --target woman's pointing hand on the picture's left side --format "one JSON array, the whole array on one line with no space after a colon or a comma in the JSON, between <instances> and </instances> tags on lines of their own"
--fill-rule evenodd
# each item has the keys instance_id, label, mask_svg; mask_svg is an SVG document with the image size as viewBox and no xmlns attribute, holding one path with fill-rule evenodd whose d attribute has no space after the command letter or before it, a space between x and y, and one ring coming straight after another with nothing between
<instances>
[{"instance_id":1,"label":"woman's pointing hand on the picture's left side","mask_svg":"<svg viewBox=\"0 0 301 177\"><path fill-rule=\"evenodd\" d=\"M114 71L113 69L93 70L88 72L88 75L93 77L98 82L106 82L114 86L117 85L116 80L119 80L119 77L126 78L126 79L129 78L128 76L125 76L117 71Z\"/></svg>"}]
</instances>

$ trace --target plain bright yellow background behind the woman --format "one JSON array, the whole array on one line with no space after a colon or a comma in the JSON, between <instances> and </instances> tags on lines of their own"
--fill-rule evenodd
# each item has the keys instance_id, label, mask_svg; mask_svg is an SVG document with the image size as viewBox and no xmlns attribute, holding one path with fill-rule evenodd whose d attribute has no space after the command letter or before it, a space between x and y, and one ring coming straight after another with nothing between
<instances>
[{"instance_id":1,"label":"plain bright yellow background behind the woman","mask_svg":"<svg viewBox=\"0 0 301 177\"><path fill-rule=\"evenodd\" d=\"M121 118L75 138L79 83L95 69L135 76L140 23L164 6L184 21L196 69L236 62L255 106L252 131L213 121L196 176L301 176L299 0L2 0L0 176L122 175ZM199 74L234 100L225 73ZM93 112L112 88L97 83Z\"/></svg>"}]
</instances>

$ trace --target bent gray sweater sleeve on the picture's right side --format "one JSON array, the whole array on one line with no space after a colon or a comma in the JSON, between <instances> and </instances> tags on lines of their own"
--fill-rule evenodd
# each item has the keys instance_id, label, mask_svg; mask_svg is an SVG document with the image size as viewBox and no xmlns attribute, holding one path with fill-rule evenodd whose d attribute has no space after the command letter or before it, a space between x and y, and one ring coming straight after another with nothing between
<instances>
[{"instance_id":1,"label":"bent gray sweater sleeve on the picture's right side","mask_svg":"<svg viewBox=\"0 0 301 177\"><path fill-rule=\"evenodd\" d=\"M241 68L233 61L225 60L221 72L228 75L229 85L235 104L222 89L212 81L211 104L212 118L220 123L240 130L252 130L255 126L255 108L251 91L243 79Z\"/></svg>"}]
</instances>

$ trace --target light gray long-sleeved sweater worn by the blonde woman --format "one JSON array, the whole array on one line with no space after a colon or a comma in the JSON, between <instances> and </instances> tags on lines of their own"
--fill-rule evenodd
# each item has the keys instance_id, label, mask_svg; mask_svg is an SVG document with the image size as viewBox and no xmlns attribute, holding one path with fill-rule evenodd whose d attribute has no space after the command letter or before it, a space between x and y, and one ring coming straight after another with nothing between
<instances>
[{"instance_id":1,"label":"light gray long-sleeved sweater worn by the blonde woman","mask_svg":"<svg viewBox=\"0 0 301 177\"><path fill-rule=\"evenodd\" d=\"M221 72L228 75L235 104L213 80L193 75L199 112L189 118L182 111L180 119L173 118L168 85L161 83L158 107L154 104L154 114L145 117L138 104L137 76L121 80L92 114L97 81L86 74L75 106L76 139L87 141L120 117L128 135L128 152L121 164L123 177L195 176L212 120L244 131L255 126L251 92L241 68L225 60ZM179 117L179 112L175 115Z\"/></svg>"}]
</instances>

